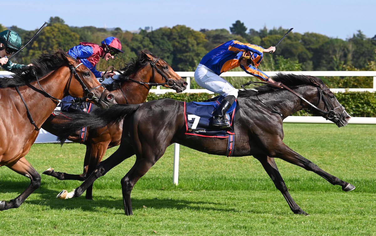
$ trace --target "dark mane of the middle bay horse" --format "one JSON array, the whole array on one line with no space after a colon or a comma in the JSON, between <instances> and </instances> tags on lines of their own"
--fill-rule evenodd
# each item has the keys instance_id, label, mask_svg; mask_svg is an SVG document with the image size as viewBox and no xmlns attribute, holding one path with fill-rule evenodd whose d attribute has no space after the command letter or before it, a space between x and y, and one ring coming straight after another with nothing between
<instances>
[{"instance_id":1,"label":"dark mane of the middle bay horse","mask_svg":"<svg viewBox=\"0 0 376 236\"><path fill-rule=\"evenodd\" d=\"M103 86L105 86L109 91L120 89L121 83L129 80L130 75L134 74L136 71L143 68L147 63L149 63L149 59L146 54L157 58L149 50L141 51L138 57L132 58L130 62L124 64L124 67L121 68L121 70L124 72L123 74L119 75L117 80L113 80L111 84L103 84Z\"/></svg>"}]
</instances>

